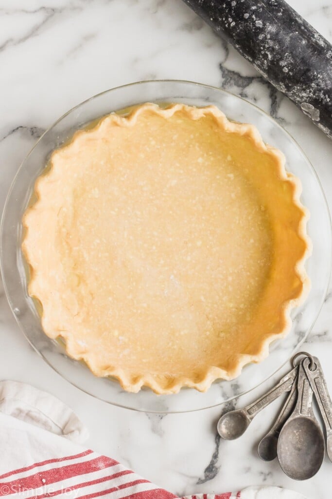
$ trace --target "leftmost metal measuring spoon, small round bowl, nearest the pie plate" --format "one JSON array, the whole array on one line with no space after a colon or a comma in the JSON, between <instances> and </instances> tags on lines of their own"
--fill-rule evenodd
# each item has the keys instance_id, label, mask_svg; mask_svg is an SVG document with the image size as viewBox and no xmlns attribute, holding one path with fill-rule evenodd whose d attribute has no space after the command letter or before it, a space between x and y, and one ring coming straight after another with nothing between
<instances>
[{"instance_id":1,"label":"leftmost metal measuring spoon, small round bowl, nearest the pie plate","mask_svg":"<svg viewBox=\"0 0 332 499\"><path fill-rule=\"evenodd\" d=\"M259 397L256 402L253 402L243 409L226 412L218 421L218 433L224 440L234 440L245 432L249 424L262 409L268 406L273 400L284 392L288 392L293 385L293 382L298 373L298 366L294 367L279 383L271 388L264 395Z\"/></svg>"}]
</instances>

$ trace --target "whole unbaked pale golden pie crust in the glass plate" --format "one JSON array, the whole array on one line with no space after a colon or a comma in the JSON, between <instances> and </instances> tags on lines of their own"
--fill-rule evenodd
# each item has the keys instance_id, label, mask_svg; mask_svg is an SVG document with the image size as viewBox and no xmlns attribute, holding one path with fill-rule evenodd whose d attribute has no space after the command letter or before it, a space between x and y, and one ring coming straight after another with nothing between
<instances>
[{"instance_id":1,"label":"whole unbaked pale golden pie crust in the glass plate","mask_svg":"<svg viewBox=\"0 0 332 499\"><path fill-rule=\"evenodd\" d=\"M148 103L76 132L23 218L44 332L131 392L206 391L264 359L309 286L284 163L215 106Z\"/></svg>"}]
</instances>

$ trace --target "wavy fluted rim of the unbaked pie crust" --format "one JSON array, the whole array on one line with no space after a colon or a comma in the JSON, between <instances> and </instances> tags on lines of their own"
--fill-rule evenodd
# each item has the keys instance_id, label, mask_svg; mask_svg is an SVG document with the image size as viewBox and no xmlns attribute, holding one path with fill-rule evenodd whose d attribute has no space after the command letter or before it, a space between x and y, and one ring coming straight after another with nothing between
<instances>
[{"instance_id":1,"label":"wavy fluted rim of the unbaked pie crust","mask_svg":"<svg viewBox=\"0 0 332 499\"><path fill-rule=\"evenodd\" d=\"M74 341L71 337L72 334L70 330L59 332L59 326L56 324L57 319L56 317L51 317L50 312L52 309L52 306L49 305L50 300L52 300L52 283L50 283L49 287L47 280L48 270L46 268L46 265L48 265L49 268L49 262L45 262L45 266L43 267L43 261L45 260L38 258L37 256L37 252L47 252L46 241L45 247L41 247L42 238L40 238L40 232L42 232L42 229L39 224L40 221L38 222L42 203L46 202L46 198L48 196L46 190L44 192L43 179L51 178L53 171L52 161L58 151L62 151L66 147L69 147L70 144L74 143L74 141L81 140L84 134L88 134L87 136L89 136L89 134L94 131L101 129L103 122L106 123L105 120L107 120L107 124L110 127L134 128L138 120L146 113L162 117L165 120L165 123L168 119L175 115L183 115L194 121L200 120L204 117L210 117L213 120L214 126L218 128L220 133L226 134L226 138L228 134L229 137L234 135L241 137L244 141L247 140L256 152L264 155L266 158L269 157L269 161L273 163L273 168L271 167L271 178L273 177L273 182L278 182L280 185L287 185L288 197L289 192L291 192L290 204L289 199L287 198L287 203L290 206L289 223L287 224L285 219L282 224L278 224L276 221L276 230L279 231L279 234L281 231L284 231L285 233L287 232L287 234L292 235L292 242L295 245L295 251L290 251L288 261L290 261L291 258L294 258L295 253L297 254L296 260L292 262L292 265L294 263L292 266L292 272L296 284L294 284L289 290L290 297L285 299L283 303L278 304L278 319L275 321L277 329L274 329L272 332L267 330L267 333L265 335L262 334L259 340L256 338L255 341L252 342L255 345L253 350L250 350L249 346L247 352L230 352L230 355L227 358L226 368L221 368L216 365L206 366L204 372L197 372L197 370L195 370L192 377L190 375L177 377L176 373L174 375L173 373L166 373L165 375L158 373L155 375L155 373L145 372L144 369L142 369L141 373L132 373L126 371L126 369L122 368L121 365L111 365L107 367L105 367L105 365L99 365L98 359L96 360L93 351L82 350L82 348L78 346L78 342L76 340ZM50 169L46 174L40 176L36 182L35 196L37 201L35 201L27 209L22 221L25 230L22 250L25 259L29 264L30 271L28 291L31 296L41 303L43 309L41 313L41 320L45 334L53 339L61 337L66 344L68 355L73 359L84 361L96 376L111 376L112 378L118 380L124 390L135 393L138 392L141 387L149 387L157 394L177 393L182 387L195 388L201 392L205 392L214 381L219 379L232 380L239 376L244 365L252 362L258 363L265 359L269 354L270 343L276 339L284 337L290 330L290 312L304 300L310 288L310 281L305 270L305 260L311 252L311 242L306 232L306 223L309 214L300 201L301 184L299 179L285 170L284 155L279 150L266 145L263 142L260 133L253 125L231 122L215 106L195 108L184 104L171 104L166 108L161 108L155 104L146 103L134 108L127 115L112 113L111 115L102 118L101 121L93 128L76 132L70 144L69 146L63 146L59 150L53 152L50 161ZM275 180L276 178L277 181ZM264 180L264 183L266 184L266 179ZM262 188L264 188L264 185ZM280 199L282 199L282 197ZM272 202L273 201L274 200L272 200ZM49 209L52 210L51 205ZM296 214L296 222L294 222L294 214ZM281 236L281 238L282 237L283 236ZM274 248L276 254L278 254L277 252L279 250L280 248ZM275 294L277 294L277 290ZM48 303L47 306L46 302Z\"/></svg>"}]
</instances>

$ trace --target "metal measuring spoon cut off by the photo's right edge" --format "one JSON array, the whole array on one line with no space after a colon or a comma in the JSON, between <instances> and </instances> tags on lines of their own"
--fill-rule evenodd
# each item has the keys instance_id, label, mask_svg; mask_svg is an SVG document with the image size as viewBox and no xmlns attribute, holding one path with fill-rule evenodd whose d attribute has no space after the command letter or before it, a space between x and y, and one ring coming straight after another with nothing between
<instances>
[{"instance_id":1,"label":"metal measuring spoon cut off by the photo's right edge","mask_svg":"<svg viewBox=\"0 0 332 499\"><path fill-rule=\"evenodd\" d=\"M303 361L303 368L314 391L326 428L327 453L332 461L332 402L326 385L324 373L317 357Z\"/></svg>"}]
</instances>

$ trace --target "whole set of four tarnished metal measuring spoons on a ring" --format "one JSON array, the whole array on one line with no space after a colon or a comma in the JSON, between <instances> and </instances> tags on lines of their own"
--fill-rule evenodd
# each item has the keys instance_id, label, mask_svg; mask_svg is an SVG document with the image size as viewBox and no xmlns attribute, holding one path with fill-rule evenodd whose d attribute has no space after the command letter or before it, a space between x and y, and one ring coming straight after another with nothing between
<instances>
[{"instance_id":1,"label":"whole set of four tarnished metal measuring spoons on a ring","mask_svg":"<svg viewBox=\"0 0 332 499\"><path fill-rule=\"evenodd\" d=\"M299 357L302 358L297 364ZM258 455L264 461L278 457L288 477L307 480L320 469L325 449L332 461L332 402L317 357L299 352L292 363L293 369L255 402L223 414L218 422L218 433L224 440L240 437L256 414L289 392L274 425L258 444ZM313 411L313 395L325 426L326 443Z\"/></svg>"}]
</instances>

